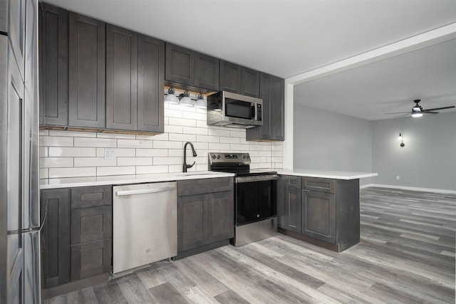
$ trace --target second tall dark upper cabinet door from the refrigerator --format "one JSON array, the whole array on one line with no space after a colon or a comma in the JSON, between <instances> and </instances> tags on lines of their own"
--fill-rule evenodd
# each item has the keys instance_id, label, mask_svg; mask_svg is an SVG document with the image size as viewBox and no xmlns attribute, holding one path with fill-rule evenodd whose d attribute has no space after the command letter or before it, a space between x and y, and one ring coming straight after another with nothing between
<instances>
[{"instance_id":1,"label":"second tall dark upper cabinet door from the refrigerator","mask_svg":"<svg viewBox=\"0 0 456 304\"><path fill-rule=\"evenodd\" d=\"M105 23L69 13L69 127L105 127Z\"/></svg>"}]
</instances>

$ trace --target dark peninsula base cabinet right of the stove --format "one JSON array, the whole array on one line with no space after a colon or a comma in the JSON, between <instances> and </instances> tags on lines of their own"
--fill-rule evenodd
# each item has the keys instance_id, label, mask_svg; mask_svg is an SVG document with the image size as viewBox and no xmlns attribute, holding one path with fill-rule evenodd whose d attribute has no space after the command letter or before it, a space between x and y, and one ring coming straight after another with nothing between
<instances>
[{"instance_id":1,"label":"dark peninsula base cabinet right of the stove","mask_svg":"<svg viewBox=\"0 0 456 304\"><path fill-rule=\"evenodd\" d=\"M301 184L296 181L301 178ZM341 252L360 241L359 179L281 176L279 232ZM294 182L290 182L294 181ZM293 185L290 185L293 184ZM296 201L301 192L299 208ZM295 214L300 214L301 221Z\"/></svg>"}]
</instances>

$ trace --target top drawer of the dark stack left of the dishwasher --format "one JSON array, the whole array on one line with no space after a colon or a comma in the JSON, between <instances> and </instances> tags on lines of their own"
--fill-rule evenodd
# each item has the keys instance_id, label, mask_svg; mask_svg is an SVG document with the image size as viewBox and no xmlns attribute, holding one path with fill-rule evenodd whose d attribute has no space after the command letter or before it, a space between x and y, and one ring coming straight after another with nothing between
<instances>
[{"instance_id":1,"label":"top drawer of the dark stack left of the dishwasher","mask_svg":"<svg viewBox=\"0 0 456 304\"><path fill-rule=\"evenodd\" d=\"M71 188L71 208L110 205L113 202L111 186Z\"/></svg>"}]
</instances>

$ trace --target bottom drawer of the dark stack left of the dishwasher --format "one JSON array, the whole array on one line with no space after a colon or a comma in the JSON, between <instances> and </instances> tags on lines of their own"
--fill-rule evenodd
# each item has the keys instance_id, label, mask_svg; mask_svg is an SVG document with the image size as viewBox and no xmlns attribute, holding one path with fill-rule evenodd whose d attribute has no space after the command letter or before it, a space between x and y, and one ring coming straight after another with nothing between
<instances>
[{"instance_id":1,"label":"bottom drawer of the dark stack left of the dishwasher","mask_svg":"<svg viewBox=\"0 0 456 304\"><path fill-rule=\"evenodd\" d=\"M108 273L112 257L111 239L71 246L71 281Z\"/></svg>"}]
</instances>

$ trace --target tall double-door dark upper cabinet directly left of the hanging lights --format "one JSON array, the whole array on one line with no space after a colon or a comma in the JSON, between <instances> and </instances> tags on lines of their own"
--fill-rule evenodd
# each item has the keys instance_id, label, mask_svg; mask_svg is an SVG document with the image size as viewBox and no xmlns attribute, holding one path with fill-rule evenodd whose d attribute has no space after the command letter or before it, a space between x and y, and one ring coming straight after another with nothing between
<instances>
[{"instance_id":1,"label":"tall double-door dark upper cabinet directly left of the hanging lights","mask_svg":"<svg viewBox=\"0 0 456 304\"><path fill-rule=\"evenodd\" d=\"M162 133L165 42L108 24L106 129Z\"/></svg>"}]
</instances>

